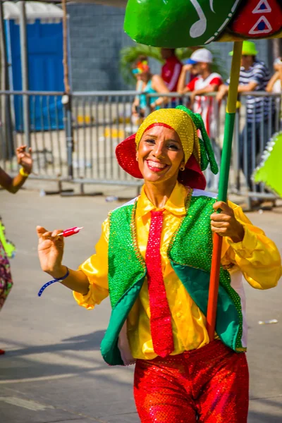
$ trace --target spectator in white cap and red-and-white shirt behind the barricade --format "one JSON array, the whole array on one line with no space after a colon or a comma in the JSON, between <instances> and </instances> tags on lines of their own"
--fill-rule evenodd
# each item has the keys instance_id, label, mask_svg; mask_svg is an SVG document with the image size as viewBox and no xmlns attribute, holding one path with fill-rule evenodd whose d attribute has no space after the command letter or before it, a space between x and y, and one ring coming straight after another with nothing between
<instances>
[{"instance_id":1,"label":"spectator in white cap and red-and-white shirt behind the barricade","mask_svg":"<svg viewBox=\"0 0 282 423\"><path fill-rule=\"evenodd\" d=\"M212 72L212 53L207 49L197 49L194 51L186 61L182 68L180 78L178 81L178 92L185 94L190 92L190 107L194 113L199 113L202 116L207 133L212 142L216 161L220 163L221 151L220 147L216 145L217 133L217 108L214 106L214 97L208 97L210 92L216 92L219 87L223 84L223 79L219 73ZM197 76L193 78L187 85L185 80L187 73L197 73ZM207 187L209 190L217 190L218 188L218 176L212 174L207 175Z\"/></svg>"}]
</instances>

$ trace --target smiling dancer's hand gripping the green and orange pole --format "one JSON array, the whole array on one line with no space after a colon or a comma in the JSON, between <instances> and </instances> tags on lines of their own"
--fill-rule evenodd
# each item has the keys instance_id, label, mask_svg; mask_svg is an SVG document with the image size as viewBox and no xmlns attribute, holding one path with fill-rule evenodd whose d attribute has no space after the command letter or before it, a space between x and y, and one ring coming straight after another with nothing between
<instances>
[{"instance_id":1,"label":"smiling dancer's hand gripping the green and orange pole","mask_svg":"<svg viewBox=\"0 0 282 423\"><path fill-rule=\"evenodd\" d=\"M243 241L245 231L243 225L235 219L233 209L223 201L214 203L214 210L221 209L221 213L211 215L212 231L221 236L228 236L233 243Z\"/></svg>"}]
</instances>

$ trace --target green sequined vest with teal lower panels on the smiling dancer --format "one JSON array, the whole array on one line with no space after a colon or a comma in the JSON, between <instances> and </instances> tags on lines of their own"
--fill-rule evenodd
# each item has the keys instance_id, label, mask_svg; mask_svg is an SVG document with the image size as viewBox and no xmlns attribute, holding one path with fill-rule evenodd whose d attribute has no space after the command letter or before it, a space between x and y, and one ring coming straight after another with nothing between
<instances>
[{"instance_id":1,"label":"green sequined vest with teal lower panels on the smiling dancer","mask_svg":"<svg viewBox=\"0 0 282 423\"><path fill-rule=\"evenodd\" d=\"M180 222L168 247L168 258L192 300L207 314L209 272L212 259L210 215L212 197L188 197L187 214ZM101 344L104 360L123 364L118 350L118 335L142 288L145 262L137 247L135 209L137 202L114 210L109 217L109 295L111 319ZM228 271L221 267L216 333L235 351L243 351L243 317L239 295L231 287Z\"/></svg>"}]
</instances>

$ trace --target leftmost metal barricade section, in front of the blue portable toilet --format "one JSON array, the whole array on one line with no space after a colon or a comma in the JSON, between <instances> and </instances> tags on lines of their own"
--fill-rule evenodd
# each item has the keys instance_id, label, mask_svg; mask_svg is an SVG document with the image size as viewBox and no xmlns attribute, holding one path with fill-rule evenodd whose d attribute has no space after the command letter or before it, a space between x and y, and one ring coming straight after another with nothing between
<instances>
[{"instance_id":1,"label":"leftmost metal barricade section, in front of the blue portable toilet","mask_svg":"<svg viewBox=\"0 0 282 423\"><path fill-rule=\"evenodd\" d=\"M55 180L66 176L66 136L63 92L0 91L0 166L12 175L18 171L15 151L25 144L23 97L30 109L29 145L34 178Z\"/></svg>"}]
</instances>

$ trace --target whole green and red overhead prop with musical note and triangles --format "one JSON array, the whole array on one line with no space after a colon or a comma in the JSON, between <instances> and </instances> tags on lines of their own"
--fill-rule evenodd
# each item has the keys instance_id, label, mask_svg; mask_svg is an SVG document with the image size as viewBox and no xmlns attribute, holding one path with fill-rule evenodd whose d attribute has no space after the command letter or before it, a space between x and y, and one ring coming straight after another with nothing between
<instances>
[{"instance_id":1,"label":"whole green and red overhead prop with musical note and triangles","mask_svg":"<svg viewBox=\"0 0 282 423\"><path fill-rule=\"evenodd\" d=\"M282 0L128 0L125 32L155 47L282 37Z\"/></svg>"}]
</instances>

